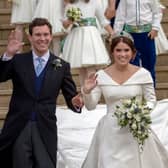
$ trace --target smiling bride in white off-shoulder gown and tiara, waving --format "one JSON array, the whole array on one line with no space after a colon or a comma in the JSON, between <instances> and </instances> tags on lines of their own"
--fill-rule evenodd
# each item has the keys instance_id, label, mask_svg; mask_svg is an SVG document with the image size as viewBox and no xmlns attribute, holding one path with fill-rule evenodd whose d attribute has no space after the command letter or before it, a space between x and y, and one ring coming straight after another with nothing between
<instances>
[{"instance_id":1,"label":"smiling bride in white off-shoulder gown and tiara, waving","mask_svg":"<svg viewBox=\"0 0 168 168\"><path fill-rule=\"evenodd\" d=\"M111 51L114 63L97 75L90 75L82 89L87 109L96 108L101 94L107 105L107 114L97 125L82 168L167 168L168 152L152 130L140 151L128 127L121 128L114 116L121 99L134 96L140 101L145 98L147 105L154 108L151 75L146 69L130 64L136 50L128 34L114 37Z\"/></svg>"}]
</instances>

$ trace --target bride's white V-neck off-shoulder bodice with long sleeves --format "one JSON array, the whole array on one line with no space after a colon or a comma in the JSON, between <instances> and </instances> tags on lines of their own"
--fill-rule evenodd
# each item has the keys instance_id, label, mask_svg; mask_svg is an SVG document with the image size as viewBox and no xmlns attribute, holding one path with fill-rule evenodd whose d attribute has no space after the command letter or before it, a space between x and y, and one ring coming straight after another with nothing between
<instances>
[{"instance_id":1,"label":"bride's white V-neck off-shoulder bodice with long sleeves","mask_svg":"<svg viewBox=\"0 0 168 168\"><path fill-rule=\"evenodd\" d=\"M147 75L144 76L144 73ZM98 86L92 91L91 95L85 95L85 104L89 109L96 107L101 94L103 94L107 104L107 113L113 112L121 99L134 96L142 99L144 96L148 105L152 107L156 101L155 92L151 85L152 79L144 68L140 68L122 84L114 81L104 70L98 72L97 80Z\"/></svg>"}]
</instances>

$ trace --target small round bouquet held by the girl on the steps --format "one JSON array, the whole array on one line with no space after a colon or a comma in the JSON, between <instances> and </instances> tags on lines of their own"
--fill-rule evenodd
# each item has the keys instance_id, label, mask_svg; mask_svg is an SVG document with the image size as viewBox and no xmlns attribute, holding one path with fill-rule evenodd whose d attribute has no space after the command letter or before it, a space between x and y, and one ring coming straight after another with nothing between
<instances>
[{"instance_id":1,"label":"small round bouquet held by the girl on the steps","mask_svg":"<svg viewBox=\"0 0 168 168\"><path fill-rule=\"evenodd\" d=\"M66 16L68 19L70 19L73 22L80 22L81 21L81 17L82 17L82 12L79 8L77 7L71 7L67 10L66 12Z\"/></svg>"}]
</instances>

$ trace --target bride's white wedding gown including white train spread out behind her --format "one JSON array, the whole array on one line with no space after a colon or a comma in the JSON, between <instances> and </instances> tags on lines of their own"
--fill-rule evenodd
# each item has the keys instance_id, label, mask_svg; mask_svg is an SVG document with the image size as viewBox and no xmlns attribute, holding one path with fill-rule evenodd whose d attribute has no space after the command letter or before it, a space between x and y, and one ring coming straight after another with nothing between
<instances>
[{"instance_id":1,"label":"bride's white wedding gown including white train spread out behind her","mask_svg":"<svg viewBox=\"0 0 168 168\"><path fill-rule=\"evenodd\" d=\"M150 73L144 68L122 85L100 70L98 88L92 94L84 95L88 100L85 101L87 108L96 107L95 110L83 108L82 114L75 114L58 108L58 151L64 167L80 168L83 164L83 168L167 168L168 99L158 101L152 111L152 133L145 141L142 153L129 131L120 129L112 116L114 106L123 97L139 95L140 98L145 94L149 105L152 105L155 95L151 84ZM95 106L100 93L103 93L107 107Z\"/></svg>"}]
</instances>

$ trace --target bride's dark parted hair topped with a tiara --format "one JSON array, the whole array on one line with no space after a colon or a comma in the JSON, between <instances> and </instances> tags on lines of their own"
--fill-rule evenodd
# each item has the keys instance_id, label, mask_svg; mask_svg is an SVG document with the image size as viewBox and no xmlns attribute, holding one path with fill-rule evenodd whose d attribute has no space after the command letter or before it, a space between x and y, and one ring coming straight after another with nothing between
<instances>
[{"instance_id":1,"label":"bride's dark parted hair topped with a tiara","mask_svg":"<svg viewBox=\"0 0 168 168\"><path fill-rule=\"evenodd\" d=\"M125 31L117 32L112 36L111 46L110 46L111 53L113 53L114 48L116 47L116 45L119 42L123 42L123 43L127 44L131 48L132 52L134 54L136 53L136 48L134 46L134 39L132 38L132 36L129 33L125 32Z\"/></svg>"}]
</instances>

